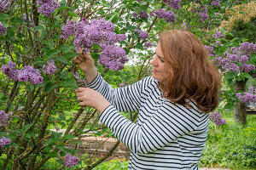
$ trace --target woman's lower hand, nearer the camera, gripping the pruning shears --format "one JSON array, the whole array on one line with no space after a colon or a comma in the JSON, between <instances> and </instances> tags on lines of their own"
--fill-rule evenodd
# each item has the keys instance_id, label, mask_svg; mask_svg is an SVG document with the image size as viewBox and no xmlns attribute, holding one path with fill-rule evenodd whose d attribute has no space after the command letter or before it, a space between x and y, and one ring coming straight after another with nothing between
<instances>
[{"instance_id":1,"label":"woman's lower hand, nearer the camera, gripping the pruning shears","mask_svg":"<svg viewBox=\"0 0 256 170\"><path fill-rule=\"evenodd\" d=\"M111 105L107 99L102 96L102 94L98 93L96 90L91 88L77 88L75 90L79 105L87 105L95 108L96 110L104 111L108 105Z\"/></svg>"}]
</instances>

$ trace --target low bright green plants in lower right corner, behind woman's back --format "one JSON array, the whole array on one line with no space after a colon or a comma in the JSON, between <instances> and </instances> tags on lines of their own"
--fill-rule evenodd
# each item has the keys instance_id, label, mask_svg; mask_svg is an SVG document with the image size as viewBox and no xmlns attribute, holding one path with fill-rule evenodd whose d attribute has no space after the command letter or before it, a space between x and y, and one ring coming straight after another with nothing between
<instances>
[{"instance_id":1,"label":"low bright green plants in lower right corner, behind woman's back","mask_svg":"<svg viewBox=\"0 0 256 170\"><path fill-rule=\"evenodd\" d=\"M255 116L249 118L247 126L235 124L226 111L228 123L216 126L210 123L207 144L202 153L200 167L229 167L252 169L256 167Z\"/></svg>"}]
</instances>

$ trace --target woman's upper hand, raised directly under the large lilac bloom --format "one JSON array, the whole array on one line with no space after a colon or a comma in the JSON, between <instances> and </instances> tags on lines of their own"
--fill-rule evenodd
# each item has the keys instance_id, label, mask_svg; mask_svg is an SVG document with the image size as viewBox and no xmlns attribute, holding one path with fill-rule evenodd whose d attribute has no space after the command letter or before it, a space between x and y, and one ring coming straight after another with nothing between
<instances>
[{"instance_id":1,"label":"woman's upper hand, raised directly under the large lilac bloom","mask_svg":"<svg viewBox=\"0 0 256 170\"><path fill-rule=\"evenodd\" d=\"M79 56L73 59L73 62L79 65L79 68L84 71L94 70L94 59L91 58L90 54L79 54Z\"/></svg>"}]
</instances>

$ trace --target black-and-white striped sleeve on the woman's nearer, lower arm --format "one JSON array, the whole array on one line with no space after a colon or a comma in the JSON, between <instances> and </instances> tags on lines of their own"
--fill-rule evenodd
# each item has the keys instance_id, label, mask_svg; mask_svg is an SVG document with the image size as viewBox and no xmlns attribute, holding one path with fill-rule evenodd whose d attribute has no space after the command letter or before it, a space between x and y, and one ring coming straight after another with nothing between
<instances>
[{"instance_id":1,"label":"black-and-white striped sleeve on the woman's nearer, lower arm","mask_svg":"<svg viewBox=\"0 0 256 170\"><path fill-rule=\"evenodd\" d=\"M100 121L110 128L113 135L138 154L159 150L194 131L200 124L197 120L203 119L207 119L206 114L198 117L187 108L173 105L170 101L166 101L142 126L127 120L113 105L108 106L100 116Z\"/></svg>"}]
</instances>

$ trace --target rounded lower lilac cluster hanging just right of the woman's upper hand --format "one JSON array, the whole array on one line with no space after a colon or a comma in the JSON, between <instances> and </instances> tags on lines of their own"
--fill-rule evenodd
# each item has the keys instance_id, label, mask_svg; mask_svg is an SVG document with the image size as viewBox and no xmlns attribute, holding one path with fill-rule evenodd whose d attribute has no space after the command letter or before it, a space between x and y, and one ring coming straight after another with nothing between
<instances>
[{"instance_id":1,"label":"rounded lower lilac cluster hanging just right of the woman's upper hand","mask_svg":"<svg viewBox=\"0 0 256 170\"><path fill-rule=\"evenodd\" d=\"M99 56L99 65L105 65L106 68L113 71L124 69L125 62L128 61L123 48L101 44L102 54Z\"/></svg>"}]
</instances>

